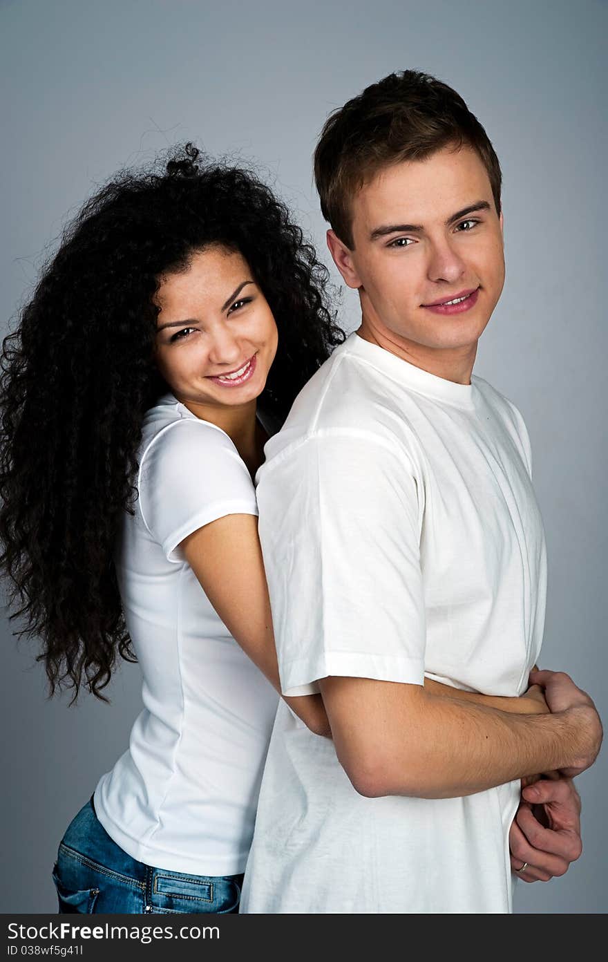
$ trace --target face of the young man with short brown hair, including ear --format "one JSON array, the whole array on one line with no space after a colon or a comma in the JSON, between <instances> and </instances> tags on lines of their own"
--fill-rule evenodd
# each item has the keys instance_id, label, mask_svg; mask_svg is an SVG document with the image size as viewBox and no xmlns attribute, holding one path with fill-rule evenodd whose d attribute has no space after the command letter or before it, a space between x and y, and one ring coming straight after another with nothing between
<instances>
[{"instance_id":1,"label":"face of the young man with short brown hair, including ear","mask_svg":"<svg viewBox=\"0 0 608 962\"><path fill-rule=\"evenodd\" d=\"M504 283L502 217L478 155L445 148L387 167L351 211L354 250L333 231L328 244L359 290L364 336L418 360L474 349Z\"/></svg>"}]
</instances>

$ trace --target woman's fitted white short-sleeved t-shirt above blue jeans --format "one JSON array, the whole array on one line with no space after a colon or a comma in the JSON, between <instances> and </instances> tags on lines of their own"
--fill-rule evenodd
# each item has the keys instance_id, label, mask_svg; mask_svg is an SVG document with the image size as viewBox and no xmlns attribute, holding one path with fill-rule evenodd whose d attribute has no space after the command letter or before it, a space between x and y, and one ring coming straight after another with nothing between
<instances>
[{"instance_id":1,"label":"woman's fitted white short-sleeved t-shirt above blue jeans","mask_svg":"<svg viewBox=\"0 0 608 962\"><path fill-rule=\"evenodd\" d=\"M228 435L166 394L144 420L137 484L115 565L144 708L97 785L95 811L146 865L238 874L278 698L179 544L225 515L257 515L253 483Z\"/></svg>"}]
</instances>

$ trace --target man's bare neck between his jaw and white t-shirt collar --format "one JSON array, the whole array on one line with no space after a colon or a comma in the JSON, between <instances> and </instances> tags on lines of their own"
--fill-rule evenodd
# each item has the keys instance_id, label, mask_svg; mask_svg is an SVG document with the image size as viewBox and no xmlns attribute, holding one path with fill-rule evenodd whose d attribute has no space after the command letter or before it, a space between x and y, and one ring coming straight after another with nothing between
<instances>
[{"instance_id":1,"label":"man's bare neck between his jaw and white t-shirt collar","mask_svg":"<svg viewBox=\"0 0 608 962\"><path fill-rule=\"evenodd\" d=\"M429 374L443 377L445 381L470 384L470 374L477 353L476 341L463 347L428 347L426 344L409 341L378 324L369 323L366 316L362 317L357 335L364 341L383 347L385 351L403 361L428 371Z\"/></svg>"}]
</instances>

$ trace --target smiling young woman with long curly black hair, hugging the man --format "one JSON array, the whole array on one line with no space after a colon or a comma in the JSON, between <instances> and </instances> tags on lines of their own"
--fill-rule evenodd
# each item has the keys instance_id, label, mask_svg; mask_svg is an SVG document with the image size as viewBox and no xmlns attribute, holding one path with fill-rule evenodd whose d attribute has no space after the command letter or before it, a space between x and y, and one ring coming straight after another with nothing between
<instances>
[{"instance_id":1,"label":"smiling young woman with long curly black hair, hugging the man","mask_svg":"<svg viewBox=\"0 0 608 962\"><path fill-rule=\"evenodd\" d=\"M62 912L238 910L279 690L252 478L343 340L325 279L254 174L187 145L89 200L4 343L22 633L51 693L103 698L118 653L143 675L129 748L60 845ZM324 730L318 698L291 707Z\"/></svg>"}]
</instances>

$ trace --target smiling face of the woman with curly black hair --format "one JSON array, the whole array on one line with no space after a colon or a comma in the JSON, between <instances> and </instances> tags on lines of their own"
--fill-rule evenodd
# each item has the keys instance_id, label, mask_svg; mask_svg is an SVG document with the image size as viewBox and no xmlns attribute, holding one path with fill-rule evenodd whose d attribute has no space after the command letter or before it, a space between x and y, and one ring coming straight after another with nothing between
<instances>
[{"instance_id":1,"label":"smiling face of the woman with curly black hair","mask_svg":"<svg viewBox=\"0 0 608 962\"><path fill-rule=\"evenodd\" d=\"M258 397L277 329L240 253L220 246L197 251L186 270L165 274L157 303L157 366L178 400L205 408Z\"/></svg>"}]
</instances>

